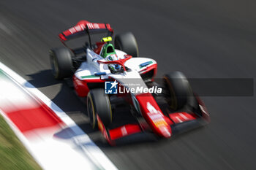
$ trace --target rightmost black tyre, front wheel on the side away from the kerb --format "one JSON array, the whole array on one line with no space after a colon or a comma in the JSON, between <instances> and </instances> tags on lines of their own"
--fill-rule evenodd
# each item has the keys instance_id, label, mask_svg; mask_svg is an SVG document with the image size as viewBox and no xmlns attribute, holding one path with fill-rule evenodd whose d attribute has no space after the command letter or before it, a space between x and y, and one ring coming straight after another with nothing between
<instances>
[{"instance_id":1,"label":"rightmost black tyre, front wheel on the side away from the kerb","mask_svg":"<svg viewBox=\"0 0 256 170\"><path fill-rule=\"evenodd\" d=\"M193 96L189 81L182 72L165 74L163 82L167 90L165 96L167 103L173 110L183 108L188 103L189 97Z\"/></svg>"}]
</instances>

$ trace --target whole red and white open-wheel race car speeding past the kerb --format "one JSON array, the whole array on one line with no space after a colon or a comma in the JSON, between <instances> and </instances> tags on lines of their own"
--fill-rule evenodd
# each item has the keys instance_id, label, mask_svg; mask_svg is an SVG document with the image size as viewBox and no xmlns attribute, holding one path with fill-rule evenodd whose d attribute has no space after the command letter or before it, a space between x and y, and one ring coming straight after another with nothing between
<instances>
[{"instance_id":1,"label":"whole red and white open-wheel race car speeding past the kerb","mask_svg":"<svg viewBox=\"0 0 256 170\"><path fill-rule=\"evenodd\" d=\"M93 42L97 34L104 36ZM88 36L83 47L67 45L67 40L83 36ZM143 134L168 139L209 123L203 101L183 73L171 72L163 75L162 83L154 81L157 62L139 57L131 32L113 36L110 24L81 20L59 39L65 47L50 50L53 76L72 79L78 96L87 98L92 128L98 128L109 144Z\"/></svg>"}]
</instances>

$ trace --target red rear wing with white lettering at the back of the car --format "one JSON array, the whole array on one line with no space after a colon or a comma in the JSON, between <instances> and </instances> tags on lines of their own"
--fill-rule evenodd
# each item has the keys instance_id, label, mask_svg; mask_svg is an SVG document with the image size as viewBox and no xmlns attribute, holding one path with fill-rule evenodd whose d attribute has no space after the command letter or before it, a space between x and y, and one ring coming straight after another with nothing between
<instances>
[{"instance_id":1,"label":"red rear wing with white lettering at the back of the car","mask_svg":"<svg viewBox=\"0 0 256 170\"><path fill-rule=\"evenodd\" d=\"M74 39L79 36L83 36L88 34L90 39L90 34L97 34L97 33L108 33L107 36L113 35L113 29L110 27L108 23L90 23L87 20L80 20L77 25L69 28L66 31L61 32L59 34L59 39L61 42L65 42L69 39Z\"/></svg>"}]
</instances>

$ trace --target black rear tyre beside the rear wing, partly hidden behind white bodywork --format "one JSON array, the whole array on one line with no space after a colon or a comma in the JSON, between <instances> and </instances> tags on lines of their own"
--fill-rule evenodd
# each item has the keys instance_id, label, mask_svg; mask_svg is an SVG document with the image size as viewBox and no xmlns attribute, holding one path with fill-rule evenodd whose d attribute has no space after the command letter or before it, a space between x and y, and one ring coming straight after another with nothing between
<instances>
[{"instance_id":1,"label":"black rear tyre beside the rear wing, partly hidden behind white bodywork","mask_svg":"<svg viewBox=\"0 0 256 170\"><path fill-rule=\"evenodd\" d=\"M132 55L132 57L139 56L138 44L135 36L131 32L118 34L115 37L115 47L118 50Z\"/></svg>"}]
</instances>

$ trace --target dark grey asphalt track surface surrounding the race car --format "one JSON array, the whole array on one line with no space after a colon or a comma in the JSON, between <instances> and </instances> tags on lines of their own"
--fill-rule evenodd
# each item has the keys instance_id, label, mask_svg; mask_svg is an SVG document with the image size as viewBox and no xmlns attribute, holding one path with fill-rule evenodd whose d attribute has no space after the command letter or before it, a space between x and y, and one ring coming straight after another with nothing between
<instances>
[{"instance_id":1,"label":"dark grey asphalt track surface surrounding the race car","mask_svg":"<svg viewBox=\"0 0 256 170\"><path fill-rule=\"evenodd\" d=\"M176 139L109 147L87 123L86 107L50 74L48 50L78 20L132 31L158 76L256 77L255 1L0 1L0 61L39 88L86 131L118 169L256 169L255 96L203 97L211 123ZM255 86L254 86L255 87ZM50 154L50 153L49 153Z\"/></svg>"}]
</instances>

